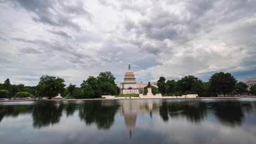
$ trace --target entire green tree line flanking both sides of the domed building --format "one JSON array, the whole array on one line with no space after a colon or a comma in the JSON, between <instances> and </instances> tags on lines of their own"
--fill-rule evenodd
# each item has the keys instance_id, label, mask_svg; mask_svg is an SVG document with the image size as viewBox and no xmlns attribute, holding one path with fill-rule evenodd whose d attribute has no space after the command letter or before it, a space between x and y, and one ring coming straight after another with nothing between
<instances>
[{"instance_id":1,"label":"entire green tree line flanking both sides of the domed building","mask_svg":"<svg viewBox=\"0 0 256 144\"><path fill-rule=\"evenodd\" d=\"M120 88L114 82L115 77L110 71L101 72L97 77L89 76L80 87L70 83L65 85L65 80L60 77L43 75L37 86L25 86L23 84L11 85L7 79L0 83L0 98L25 98L48 97L49 99L61 94L62 97L71 98L100 98L102 95L118 95ZM199 97L216 97L218 94L253 94L256 95L256 85L247 91L246 83L237 82L230 73L215 73L208 82L203 82L195 76L184 76L181 80L167 80L160 77L158 88L153 87L152 92L162 93L166 96L181 96L184 94L198 94ZM147 93L147 87L144 88Z\"/></svg>"}]
</instances>

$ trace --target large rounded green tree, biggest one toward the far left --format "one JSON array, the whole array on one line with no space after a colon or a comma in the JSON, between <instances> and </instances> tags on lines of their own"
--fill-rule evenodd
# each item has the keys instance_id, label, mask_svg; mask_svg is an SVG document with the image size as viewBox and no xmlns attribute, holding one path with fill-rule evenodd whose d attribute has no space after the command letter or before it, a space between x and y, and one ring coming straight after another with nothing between
<instances>
[{"instance_id":1,"label":"large rounded green tree, biggest one toward the far left","mask_svg":"<svg viewBox=\"0 0 256 144\"><path fill-rule=\"evenodd\" d=\"M49 99L62 94L65 91L64 79L60 77L43 75L36 87L39 97L49 97Z\"/></svg>"}]
</instances>

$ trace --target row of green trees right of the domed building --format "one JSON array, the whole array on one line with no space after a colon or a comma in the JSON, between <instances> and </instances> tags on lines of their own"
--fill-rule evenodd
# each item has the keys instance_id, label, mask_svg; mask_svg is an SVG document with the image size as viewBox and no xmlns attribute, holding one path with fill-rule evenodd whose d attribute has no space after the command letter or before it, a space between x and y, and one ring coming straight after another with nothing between
<instances>
[{"instance_id":1,"label":"row of green trees right of the domed building","mask_svg":"<svg viewBox=\"0 0 256 144\"><path fill-rule=\"evenodd\" d=\"M230 73L219 72L213 74L208 82L203 82L195 76L189 75L181 80L167 80L161 76L157 82L162 95L181 96L184 94L198 94L199 97L217 97L217 95L256 94L256 85L247 91L246 83L237 82Z\"/></svg>"}]
</instances>

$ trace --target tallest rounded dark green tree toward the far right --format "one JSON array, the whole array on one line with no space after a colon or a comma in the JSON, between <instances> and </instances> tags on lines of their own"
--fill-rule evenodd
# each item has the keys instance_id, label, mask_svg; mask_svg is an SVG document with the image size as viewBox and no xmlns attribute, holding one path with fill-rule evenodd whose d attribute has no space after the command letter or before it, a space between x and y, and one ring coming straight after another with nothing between
<instances>
[{"instance_id":1,"label":"tallest rounded dark green tree toward the far right","mask_svg":"<svg viewBox=\"0 0 256 144\"><path fill-rule=\"evenodd\" d=\"M226 94L231 93L235 89L236 79L230 73L215 73L209 79L210 86L213 88L214 92L219 94Z\"/></svg>"}]
</instances>

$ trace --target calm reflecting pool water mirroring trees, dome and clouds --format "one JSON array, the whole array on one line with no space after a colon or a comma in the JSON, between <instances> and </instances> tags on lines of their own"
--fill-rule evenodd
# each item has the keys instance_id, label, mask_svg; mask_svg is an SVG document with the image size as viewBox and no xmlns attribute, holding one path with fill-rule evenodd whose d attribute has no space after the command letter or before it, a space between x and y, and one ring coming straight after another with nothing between
<instances>
[{"instance_id":1,"label":"calm reflecting pool water mirroring trees, dome and clouds","mask_svg":"<svg viewBox=\"0 0 256 144\"><path fill-rule=\"evenodd\" d=\"M0 103L0 143L255 143L256 99Z\"/></svg>"}]
</instances>

